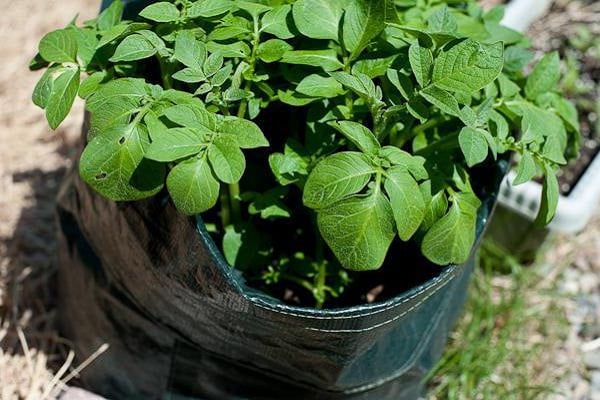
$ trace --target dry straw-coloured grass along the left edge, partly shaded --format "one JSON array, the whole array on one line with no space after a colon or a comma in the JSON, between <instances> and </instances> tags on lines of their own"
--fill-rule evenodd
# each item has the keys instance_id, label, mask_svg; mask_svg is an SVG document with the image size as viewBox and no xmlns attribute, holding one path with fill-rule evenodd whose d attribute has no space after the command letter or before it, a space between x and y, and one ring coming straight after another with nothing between
<instances>
[{"instance_id":1,"label":"dry straw-coloured grass along the left edge, partly shaded","mask_svg":"<svg viewBox=\"0 0 600 400\"><path fill-rule=\"evenodd\" d=\"M0 399L54 398L72 354L52 311L54 198L69 166L82 105L53 133L30 101L40 73L27 70L39 39L97 0L0 0ZM56 367L51 370L50 367ZM71 370L72 372L72 370Z\"/></svg>"}]
</instances>

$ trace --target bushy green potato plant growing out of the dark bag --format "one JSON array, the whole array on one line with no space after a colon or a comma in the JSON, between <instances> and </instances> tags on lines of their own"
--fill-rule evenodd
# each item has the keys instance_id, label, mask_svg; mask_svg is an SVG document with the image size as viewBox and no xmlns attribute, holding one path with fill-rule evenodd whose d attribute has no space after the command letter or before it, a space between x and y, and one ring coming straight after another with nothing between
<instances>
[{"instance_id":1,"label":"bushy green potato plant growing out of the dark bag","mask_svg":"<svg viewBox=\"0 0 600 400\"><path fill-rule=\"evenodd\" d=\"M516 183L577 154L556 53L525 74L502 8L439 0L172 0L123 19L115 1L48 33L33 94L56 128L77 95L91 127L81 177L102 196L168 193L201 214L227 261L321 307L394 241L467 260L472 171L518 154ZM102 218L98 215L98 218ZM360 279L360 274L352 274Z\"/></svg>"}]
</instances>

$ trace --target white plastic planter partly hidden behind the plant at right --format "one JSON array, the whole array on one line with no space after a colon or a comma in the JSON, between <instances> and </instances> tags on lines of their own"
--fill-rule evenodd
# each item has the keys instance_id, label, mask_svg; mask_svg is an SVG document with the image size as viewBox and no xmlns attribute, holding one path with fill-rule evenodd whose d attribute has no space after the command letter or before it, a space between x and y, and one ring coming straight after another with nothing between
<instances>
[{"instance_id":1,"label":"white plastic planter partly hidden behind the plant at right","mask_svg":"<svg viewBox=\"0 0 600 400\"><path fill-rule=\"evenodd\" d=\"M552 0L513 0L507 8L502 23L515 30L524 31L550 8ZM515 173L511 171L502 182L498 201L508 209L534 220L540 208L542 186L527 182L513 186ZM554 220L553 231L576 233L588 223L600 204L600 154L596 155L584 175L568 196L561 196Z\"/></svg>"}]
</instances>

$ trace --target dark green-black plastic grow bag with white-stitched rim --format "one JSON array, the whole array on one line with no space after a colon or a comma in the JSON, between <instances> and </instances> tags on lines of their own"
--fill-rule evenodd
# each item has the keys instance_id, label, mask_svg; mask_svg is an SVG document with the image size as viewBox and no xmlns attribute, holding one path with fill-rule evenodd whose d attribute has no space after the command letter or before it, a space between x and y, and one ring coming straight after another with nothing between
<instances>
[{"instance_id":1,"label":"dark green-black plastic grow bag with white-stitched rim","mask_svg":"<svg viewBox=\"0 0 600 400\"><path fill-rule=\"evenodd\" d=\"M484 174L478 241L503 166ZM110 345L81 379L111 399L416 399L474 259L385 302L316 310L248 287L166 196L108 201L75 166L58 221L62 333L81 358Z\"/></svg>"}]
</instances>

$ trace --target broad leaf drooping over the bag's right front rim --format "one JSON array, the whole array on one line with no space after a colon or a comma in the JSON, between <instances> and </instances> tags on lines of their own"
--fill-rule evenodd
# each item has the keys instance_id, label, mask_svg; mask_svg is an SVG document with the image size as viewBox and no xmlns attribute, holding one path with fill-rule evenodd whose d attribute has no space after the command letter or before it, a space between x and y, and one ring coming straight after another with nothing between
<instances>
[{"instance_id":1,"label":"broad leaf drooping over the bag's right front rim","mask_svg":"<svg viewBox=\"0 0 600 400\"><path fill-rule=\"evenodd\" d=\"M475 242L477 208L472 204L475 201L479 202L472 194L455 194L448 213L423 238L421 250L427 259L438 265L467 261Z\"/></svg>"}]
</instances>

